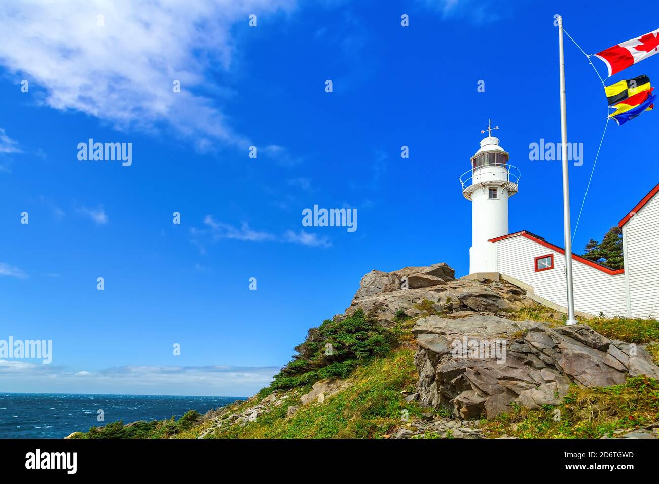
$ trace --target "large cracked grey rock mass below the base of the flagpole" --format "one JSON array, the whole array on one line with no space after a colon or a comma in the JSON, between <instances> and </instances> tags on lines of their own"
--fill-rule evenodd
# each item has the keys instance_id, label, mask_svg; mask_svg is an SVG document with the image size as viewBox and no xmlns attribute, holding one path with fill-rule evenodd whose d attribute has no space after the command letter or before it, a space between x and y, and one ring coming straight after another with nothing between
<instances>
[{"instance_id":1,"label":"large cracked grey rock mass below the base of the flagpole","mask_svg":"<svg viewBox=\"0 0 659 484\"><path fill-rule=\"evenodd\" d=\"M491 418L512 402L558 404L571 383L608 387L627 375L659 378L641 346L609 340L585 324L550 328L494 315L431 316L412 331L419 346L414 398L461 419Z\"/></svg>"}]
</instances>

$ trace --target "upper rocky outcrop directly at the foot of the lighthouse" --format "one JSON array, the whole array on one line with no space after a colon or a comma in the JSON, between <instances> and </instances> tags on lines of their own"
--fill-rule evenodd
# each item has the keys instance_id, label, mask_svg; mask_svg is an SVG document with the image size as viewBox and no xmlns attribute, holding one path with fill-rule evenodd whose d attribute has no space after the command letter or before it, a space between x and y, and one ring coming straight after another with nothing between
<instances>
[{"instance_id":1,"label":"upper rocky outcrop directly at the foot of the lighthouse","mask_svg":"<svg viewBox=\"0 0 659 484\"><path fill-rule=\"evenodd\" d=\"M455 271L445 263L405 267L391 273L371 271L362 277L360 288L345 312L375 310L383 323L387 323L395 319L397 311L409 316L422 315L415 306L424 300L433 304L434 313L444 317L503 315L538 305L527 298L523 288L508 282L456 280L454 275Z\"/></svg>"}]
</instances>

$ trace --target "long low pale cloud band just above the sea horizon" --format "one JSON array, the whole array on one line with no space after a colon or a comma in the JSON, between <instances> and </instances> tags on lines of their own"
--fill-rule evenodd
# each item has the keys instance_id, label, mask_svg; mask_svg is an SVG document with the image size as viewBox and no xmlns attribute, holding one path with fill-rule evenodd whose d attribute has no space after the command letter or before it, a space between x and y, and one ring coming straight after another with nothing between
<instances>
[{"instance_id":1,"label":"long low pale cloud band just above the sea horizon","mask_svg":"<svg viewBox=\"0 0 659 484\"><path fill-rule=\"evenodd\" d=\"M249 396L272 381L279 367L231 365L124 365L88 371L0 360L0 377L12 391L166 393ZM174 390L175 389L175 390Z\"/></svg>"}]
</instances>

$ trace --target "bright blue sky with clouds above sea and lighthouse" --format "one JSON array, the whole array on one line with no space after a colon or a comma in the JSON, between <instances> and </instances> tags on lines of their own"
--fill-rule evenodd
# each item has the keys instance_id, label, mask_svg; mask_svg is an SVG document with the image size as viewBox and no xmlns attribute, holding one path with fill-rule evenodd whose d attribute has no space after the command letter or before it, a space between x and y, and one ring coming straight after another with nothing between
<instances>
[{"instance_id":1,"label":"bright blue sky with clouds above sea and lighthouse","mask_svg":"<svg viewBox=\"0 0 659 484\"><path fill-rule=\"evenodd\" d=\"M588 53L657 28L613 26L613 1L179 4L0 6L0 339L53 340L49 365L0 361L0 390L252 394L368 271L467 273L458 177L488 118L523 174L511 232L562 246L560 163L529 160L560 138L553 16ZM606 97L565 48L575 221ZM640 74L659 58L613 80ZM575 252L658 182L658 127L610 124ZM88 138L132 143L132 165L78 161ZM356 208L357 231L302 227L314 204Z\"/></svg>"}]
</instances>

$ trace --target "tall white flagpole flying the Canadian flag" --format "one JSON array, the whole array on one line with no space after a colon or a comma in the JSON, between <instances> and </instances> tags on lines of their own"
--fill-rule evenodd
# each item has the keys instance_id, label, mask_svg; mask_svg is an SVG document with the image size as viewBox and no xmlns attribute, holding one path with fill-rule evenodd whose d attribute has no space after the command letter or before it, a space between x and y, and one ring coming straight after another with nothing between
<instances>
[{"instance_id":1,"label":"tall white flagpole flying the Canadian flag","mask_svg":"<svg viewBox=\"0 0 659 484\"><path fill-rule=\"evenodd\" d=\"M572 284L572 230L570 227L570 188L567 160L567 109L565 107L565 59L563 58L563 17L558 16L558 51L561 84L561 161L563 162L563 231L565 236L565 278L567 279L567 324L575 319L574 288Z\"/></svg>"}]
</instances>

